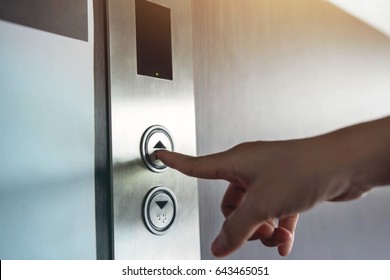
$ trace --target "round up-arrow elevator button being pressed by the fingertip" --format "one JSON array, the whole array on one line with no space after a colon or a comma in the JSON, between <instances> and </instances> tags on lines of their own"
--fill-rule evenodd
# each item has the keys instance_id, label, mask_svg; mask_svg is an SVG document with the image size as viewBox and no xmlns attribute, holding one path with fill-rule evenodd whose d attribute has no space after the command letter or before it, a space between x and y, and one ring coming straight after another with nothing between
<instances>
[{"instance_id":1,"label":"round up-arrow elevator button being pressed by the fingertip","mask_svg":"<svg viewBox=\"0 0 390 280\"><path fill-rule=\"evenodd\" d=\"M157 150L173 151L173 141L169 131L161 126L149 127L141 139L141 157L145 165L154 172L163 172L167 166L156 158Z\"/></svg>"}]
</instances>

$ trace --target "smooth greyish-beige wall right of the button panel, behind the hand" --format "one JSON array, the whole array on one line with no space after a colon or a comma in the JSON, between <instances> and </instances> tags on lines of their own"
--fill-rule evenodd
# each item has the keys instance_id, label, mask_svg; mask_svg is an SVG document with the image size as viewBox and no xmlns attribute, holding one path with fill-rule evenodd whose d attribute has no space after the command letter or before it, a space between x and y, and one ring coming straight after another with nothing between
<instances>
[{"instance_id":1,"label":"smooth greyish-beige wall right of the button panel, behind the hand","mask_svg":"<svg viewBox=\"0 0 390 280\"><path fill-rule=\"evenodd\" d=\"M321 0L193 1L198 154L390 114L390 38ZM281 174L283 176L283 174ZM226 182L200 180L202 258ZM291 259L388 259L390 188L301 216ZM247 243L232 259L278 259Z\"/></svg>"}]
</instances>

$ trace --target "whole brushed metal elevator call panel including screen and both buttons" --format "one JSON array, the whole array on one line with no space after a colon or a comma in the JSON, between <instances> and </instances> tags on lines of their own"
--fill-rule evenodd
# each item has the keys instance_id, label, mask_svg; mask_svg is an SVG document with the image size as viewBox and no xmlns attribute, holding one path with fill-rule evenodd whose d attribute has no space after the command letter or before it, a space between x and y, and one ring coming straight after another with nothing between
<instances>
[{"instance_id":1,"label":"whole brushed metal elevator call panel including screen and both buttons","mask_svg":"<svg viewBox=\"0 0 390 280\"><path fill-rule=\"evenodd\" d=\"M115 259L198 259L197 182L154 157L195 154L189 0L108 1Z\"/></svg>"}]
</instances>

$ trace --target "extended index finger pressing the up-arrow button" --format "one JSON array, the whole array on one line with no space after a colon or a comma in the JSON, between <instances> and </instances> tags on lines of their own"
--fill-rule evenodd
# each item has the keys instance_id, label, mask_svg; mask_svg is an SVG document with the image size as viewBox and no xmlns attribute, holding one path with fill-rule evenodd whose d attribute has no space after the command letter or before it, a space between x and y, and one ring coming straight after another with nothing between
<instances>
[{"instance_id":1,"label":"extended index finger pressing the up-arrow button","mask_svg":"<svg viewBox=\"0 0 390 280\"><path fill-rule=\"evenodd\" d=\"M166 150L159 150L156 152L156 157L167 166L191 177L203 179L226 179L228 177L226 152L192 157Z\"/></svg>"}]
</instances>

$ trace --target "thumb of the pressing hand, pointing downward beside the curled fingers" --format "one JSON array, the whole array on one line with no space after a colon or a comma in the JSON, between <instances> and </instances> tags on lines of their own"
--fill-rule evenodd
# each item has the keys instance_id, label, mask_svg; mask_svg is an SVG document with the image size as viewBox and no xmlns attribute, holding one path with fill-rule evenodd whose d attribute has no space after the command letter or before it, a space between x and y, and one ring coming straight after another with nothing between
<instances>
[{"instance_id":1,"label":"thumb of the pressing hand, pointing downward beside the curled fingers","mask_svg":"<svg viewBox=\"0 0 390 280\"><path fill-rule=\"evenodd\" d=\"M225 220L222 229L211 245L216 257L225 257L243 245L266 219L253 216L248 201L241 203Z\"/></svg>"}]
</instances>

